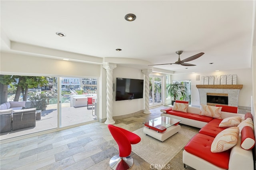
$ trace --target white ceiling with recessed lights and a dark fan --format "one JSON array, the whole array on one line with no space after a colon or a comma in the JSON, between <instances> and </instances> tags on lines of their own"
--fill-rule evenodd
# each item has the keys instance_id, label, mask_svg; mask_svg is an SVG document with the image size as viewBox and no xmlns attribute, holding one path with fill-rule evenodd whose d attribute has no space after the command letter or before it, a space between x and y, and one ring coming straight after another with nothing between
<instances>
[{"instance_id":1,"label":"white ceiling with recessed lights and a dark fan","mask_svg":"<svg viewBox=\"0 0 256 170\"><path fill-rule=\"evenodd\" d=\"M0 3L1 51L152 68L148 65L174 63L175 51L183 50L181 60L205 54L187 62L196 66L154 69L190 73L251 67L256 8L252 0ZM129 13L136 15L135 21L124 20Z\"/></svg>"}]
</instances>

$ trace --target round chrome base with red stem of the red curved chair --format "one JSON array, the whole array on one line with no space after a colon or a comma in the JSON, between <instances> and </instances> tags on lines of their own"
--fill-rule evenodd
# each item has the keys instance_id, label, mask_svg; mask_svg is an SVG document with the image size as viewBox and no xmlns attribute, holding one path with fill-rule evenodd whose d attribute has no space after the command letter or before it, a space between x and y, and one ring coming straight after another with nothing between
<instances>
[{"instance_id":1,"label":"round chrome base with red stem of the red curved chair","mask_svg":"<svg viewBox=\"0 0 256 170\"><path fill-rule=\"evenodd\" d=\"M133 159L130 156L120 157L117 154L110 159L109 165L113 170L128 170L133 165Z\"/></svg>"}]
</instances>

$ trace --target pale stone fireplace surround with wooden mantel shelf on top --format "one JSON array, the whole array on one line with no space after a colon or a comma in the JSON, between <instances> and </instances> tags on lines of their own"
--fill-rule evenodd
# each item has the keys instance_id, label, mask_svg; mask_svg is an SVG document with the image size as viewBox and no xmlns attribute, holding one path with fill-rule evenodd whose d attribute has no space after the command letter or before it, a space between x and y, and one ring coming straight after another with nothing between
<instances>
[{"instance_id":1,"label":"pale stone fireplace surround with wooden mantel shelf on top","mask_svg":"<svg viewBox=\"0 0 256 170\"><path fill-rule=\"evenodd\" d=\"M200 103L207 105L207 93L228 94L228 105L238 107L238 95L243 85L196 85L199 91Z\"/></svg>"}]
</instances>

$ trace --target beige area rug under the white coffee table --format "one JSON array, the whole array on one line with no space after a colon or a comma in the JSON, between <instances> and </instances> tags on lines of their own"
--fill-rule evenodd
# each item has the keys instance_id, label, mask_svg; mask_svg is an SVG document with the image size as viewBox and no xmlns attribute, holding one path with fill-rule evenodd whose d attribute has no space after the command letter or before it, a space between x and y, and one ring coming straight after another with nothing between
<instances>
[{"instance_id":1,"label":"beige area rug under the white coffee table","mask_svg":"<svg viewBox=\"0 0 256 170\"><path fill-rule=\"evenodd\" d=\"M143 128L135 130L134 133L140 136L141 141L132 145L132 152L148 162L150 167L154 166L161 170L164 168L163 165L167 165L198 132L181 127L178 133L164 142L144 134Z\"/></svg>"}]
</instances>

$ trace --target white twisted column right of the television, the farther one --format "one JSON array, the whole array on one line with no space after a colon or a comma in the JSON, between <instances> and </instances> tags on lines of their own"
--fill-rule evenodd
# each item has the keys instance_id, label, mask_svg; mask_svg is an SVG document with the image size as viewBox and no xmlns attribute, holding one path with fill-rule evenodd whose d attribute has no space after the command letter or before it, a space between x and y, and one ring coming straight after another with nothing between
<instances>
[{"instance_id":1,"label":"white twisted column right of the television, the farther one","mask_svg":"<svg viewBox=\"0 0 256 170\"><path fill-rule=\"evenodd\" d=\"M143 113L150 114L149 111L149 74L152 72L152 69L143 69L142 73L145 74L145 110Z\"/></svg>"}]
</instances>

